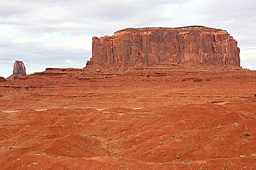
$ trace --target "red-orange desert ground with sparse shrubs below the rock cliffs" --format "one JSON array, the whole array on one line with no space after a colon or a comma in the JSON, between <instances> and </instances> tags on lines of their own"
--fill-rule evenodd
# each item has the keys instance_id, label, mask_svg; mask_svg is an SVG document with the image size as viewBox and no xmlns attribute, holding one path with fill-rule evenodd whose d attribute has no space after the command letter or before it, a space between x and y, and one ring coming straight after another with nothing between
<instances>
[{"instance_id":1,"label":"red-orange desert ground with sparse shrubs below the rock cliffs","mask_svg":"<svg viewBox=\"0 0 256 170\"><path fill-rule=\"evenodd\" d=\"M1 80L0 170L255 170L256 71L179 61Z\"/></svg>"}]
</instances>

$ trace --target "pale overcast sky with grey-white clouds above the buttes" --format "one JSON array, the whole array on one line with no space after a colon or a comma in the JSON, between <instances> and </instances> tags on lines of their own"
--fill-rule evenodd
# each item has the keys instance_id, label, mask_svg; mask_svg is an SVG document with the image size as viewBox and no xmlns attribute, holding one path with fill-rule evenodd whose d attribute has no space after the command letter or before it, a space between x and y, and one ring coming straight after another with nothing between
<instances>
[{"instance_id":1,"label":"pale overcast sky with grey-white clouds above the buttes","mask_svg":"<svg viewBox=\"0 0 256 170\"><path fill-rule=\"evenodd\" d=\"M84 68L92 37L124 28L201 25L238 41L241 66L256 70L255 0L1 0L0 76Z\"/></svg>"}]
</instances>

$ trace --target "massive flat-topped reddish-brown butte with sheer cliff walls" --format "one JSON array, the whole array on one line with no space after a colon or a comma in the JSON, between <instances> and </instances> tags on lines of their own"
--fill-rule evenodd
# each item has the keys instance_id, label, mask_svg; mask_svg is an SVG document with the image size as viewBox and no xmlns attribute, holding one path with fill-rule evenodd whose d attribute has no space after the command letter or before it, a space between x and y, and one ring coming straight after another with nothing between
<instances>
[{"instance_id":1,"label":"massive flat-topped reddish-brown butte with sheer cliff walls","mask_svg":"<svg viewBox=\"0 0 256 170\"><path fill-rule=\"evenodd\" d=\"M93 37L88 64L194 63L240 65L237 41L225 30L203 26L128 28Z\"/></svg>"}]
</instances>

